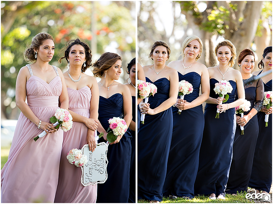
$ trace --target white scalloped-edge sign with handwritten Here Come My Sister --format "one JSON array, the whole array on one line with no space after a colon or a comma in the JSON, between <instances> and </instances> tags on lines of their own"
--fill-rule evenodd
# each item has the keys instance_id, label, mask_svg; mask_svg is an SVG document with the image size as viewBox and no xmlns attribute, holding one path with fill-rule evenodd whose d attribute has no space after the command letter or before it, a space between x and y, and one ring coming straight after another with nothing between
<instances>
[{"instance_id":1,"label":"white scalloped-edge sign with handwritten Here Come My Sister","mask_svg":"<svg viewBox=\"0 0 273 204\"><path fill-rule=\"evenodd\" d=\"M84 186L104 183L107 180L107 150L108 145L104 142L97 144L94 152L89 151L88 144L83 146L82 153L87 156L88 160L85 165L81 166L81 183Z\"/></svg>"}]
</instances>

